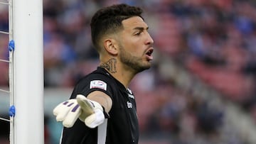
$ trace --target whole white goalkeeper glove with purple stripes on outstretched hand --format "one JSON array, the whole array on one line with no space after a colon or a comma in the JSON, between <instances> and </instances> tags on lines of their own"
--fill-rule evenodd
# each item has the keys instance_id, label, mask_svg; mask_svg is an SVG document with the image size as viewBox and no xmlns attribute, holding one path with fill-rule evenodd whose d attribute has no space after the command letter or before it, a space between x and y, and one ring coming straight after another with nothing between
<instances>
[{"instance_id":1,"label":"whole white goalkeeper glove with purple stripes on outstretched hand","mask_svg":"<svg viewBox=\"0 0 256 144\"><path fill-rule=\"evenodd\" d=\"M104 122L109 115L97 102L78 94L76 99L69 99L53 109L57 121L63 121L63 126L70 128L79 118L89 128L95 128Z\"/></svg>"}]
</instances>

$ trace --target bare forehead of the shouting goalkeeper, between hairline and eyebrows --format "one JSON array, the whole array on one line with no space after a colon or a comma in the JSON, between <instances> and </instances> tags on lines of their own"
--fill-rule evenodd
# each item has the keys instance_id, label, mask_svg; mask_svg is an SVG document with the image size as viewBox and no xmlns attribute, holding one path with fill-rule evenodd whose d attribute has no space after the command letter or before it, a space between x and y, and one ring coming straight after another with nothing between
<instances>
[{"instance_id":1,"label":"bare forehead of the shouting goalkeeper, between hairline and eyebrows","mask_svg":"<svg viewBox=\"0 0 256 144\"><path fill-rule=\"evenodd\" d=\"M124 29L127 29L127 28L134 29L134 28L137 28L137 27L148 28L147 24L139 16L134 16L132 18L127 18L124 21L122 21L122 24L124 26Z\"/></svg>"}]
</instances>

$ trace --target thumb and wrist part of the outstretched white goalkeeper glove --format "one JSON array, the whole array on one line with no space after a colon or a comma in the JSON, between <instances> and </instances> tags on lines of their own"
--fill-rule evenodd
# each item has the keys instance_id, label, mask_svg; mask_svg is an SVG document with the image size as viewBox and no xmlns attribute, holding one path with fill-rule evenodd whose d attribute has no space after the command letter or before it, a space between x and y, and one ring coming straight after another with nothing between
<instances>
[{"instance_id":1,"label":"thumb and wrist part of the outstretched white goalkeeper glove","mask_svg":"<svg viewBox=\"0 0 256 144\"><path fill-rule=\"evenodd\" d=\"M97 101L87 99L82 94L78 94L76 99L82 111L79 116L80 121L84 121L85 125L89 128L99 126L104 122L105 118L108 117L106 113L104 113L102 106Z\"/></svg>"}]
</instances>

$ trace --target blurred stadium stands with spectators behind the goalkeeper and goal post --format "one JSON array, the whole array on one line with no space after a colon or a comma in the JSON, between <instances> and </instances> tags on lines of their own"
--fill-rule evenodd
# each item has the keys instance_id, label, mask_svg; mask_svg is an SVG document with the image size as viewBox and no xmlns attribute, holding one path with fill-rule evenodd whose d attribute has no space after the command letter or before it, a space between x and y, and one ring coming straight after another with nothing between
<instances>
[{"instance_id":1,"label":"blurred stadium stands with spectators behind the goalkeeper and goal post","mask_svg":"<svg viewBox=\"0 0 256 144\"><path fill-rule=\"evenodd\" d=\"M137 99L140 144L256 143L256 1L254 0L43 0L45 143L62 129L52 114L75 82L95 70L90 18L102 6L141 6L154 39L154 64L130 89ZM0 31L8 31L0 6ZM33 36L33 35L31 35ZM0 34L0 58L8 59ZM0 86L8 87L0 62ZM0 114L9 97L0 92ZM0 121L0 143L9 123Z\"/></svg>"}]
</instances>

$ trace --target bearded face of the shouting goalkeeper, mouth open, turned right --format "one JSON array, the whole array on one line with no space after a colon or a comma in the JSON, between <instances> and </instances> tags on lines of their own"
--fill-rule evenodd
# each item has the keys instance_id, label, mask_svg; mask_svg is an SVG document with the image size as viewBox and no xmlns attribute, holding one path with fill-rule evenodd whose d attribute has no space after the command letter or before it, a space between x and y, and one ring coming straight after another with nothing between
<instances>
[{"instance_id":1,"label":"bearded face of the shouting goalkeeper, mouth open, turned right","mask_svg":"<svg viewBox=\"0 0 256 144\"><path fill-rule=\"evenodd\" d=\"M124 30L119 34L119 58L124 67L142 72L151 67L153 43L148 26L139 16L122 21Z\"/></svg>"}]
</instances>

